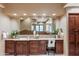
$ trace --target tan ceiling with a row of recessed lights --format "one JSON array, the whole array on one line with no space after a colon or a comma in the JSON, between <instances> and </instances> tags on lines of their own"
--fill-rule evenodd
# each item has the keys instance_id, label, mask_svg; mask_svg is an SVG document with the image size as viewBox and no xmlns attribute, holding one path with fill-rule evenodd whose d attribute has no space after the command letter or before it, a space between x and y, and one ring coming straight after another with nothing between
<instances>
[{"instance_id":1,"label":"tan ceiling with a row of recessed lights","mask_svg":"<svg viewBox=\"0 0 79 59\"><path fill-rule=\"evenodd\" d=\"M55 13L55 17L61 17L65 14L64 5L65 3L4 3L4 13L10 17L15 17L13 14L16 13L16 17L23 16L26 13L27 16L33 16L36 13L37 16L42 16L43 13L46 16L52 16Z\"/></svg>"}]
</instances>

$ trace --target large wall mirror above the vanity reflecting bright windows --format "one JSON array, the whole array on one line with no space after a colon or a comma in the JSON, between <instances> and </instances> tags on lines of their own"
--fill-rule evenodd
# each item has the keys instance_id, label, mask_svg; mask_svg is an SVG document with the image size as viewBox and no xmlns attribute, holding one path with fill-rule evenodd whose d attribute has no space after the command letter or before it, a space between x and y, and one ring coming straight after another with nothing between
<instances>
[{"instance_id":1,"label":"large wall mirror above the vanity reflecting bright windows","mask_svg":"<svg viewBox=\"0 0 79 59\"><path fill-rule=\"evenodd\" d=\"M52 33L54 25L53 17L50 16L29 16L20 20L20 31L26 30L33 34L33 31L38 33ZM45 34L46 34L45 33ZM27 33L26 33L27 34Z\"/></svg>"}]
</instances>

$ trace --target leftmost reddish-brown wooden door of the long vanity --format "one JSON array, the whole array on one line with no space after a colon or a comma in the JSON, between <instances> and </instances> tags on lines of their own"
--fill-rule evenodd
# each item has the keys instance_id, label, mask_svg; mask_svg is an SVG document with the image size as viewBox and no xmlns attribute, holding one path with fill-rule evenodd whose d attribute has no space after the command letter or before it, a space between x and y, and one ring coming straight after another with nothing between
<instances>
[{"instance_id":1,"label":"leftmost reddish-brown wooden door of the long vanity","mask_svg":"<svg viewBox=\"0 0 79 59\"><path fill-rule=\"evenodd\" d=\"M14 55L14 41L6 40L5 41L5 54L6 55Z\"/></svg>"}]
</instances>

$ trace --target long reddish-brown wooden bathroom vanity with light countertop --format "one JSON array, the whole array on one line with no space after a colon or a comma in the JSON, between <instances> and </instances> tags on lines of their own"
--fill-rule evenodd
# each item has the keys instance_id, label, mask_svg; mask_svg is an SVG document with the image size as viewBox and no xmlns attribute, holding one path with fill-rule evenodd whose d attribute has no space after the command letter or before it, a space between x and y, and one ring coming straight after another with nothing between
<instances>
[{"instance_id":1,"label":"long reddish-brown wooden bathroom vanity with light countertop","mask_svg":"<svg viewBox=\"0 0 79 59\"><path fill-rule=\"evenodd\" d=\"M5 55L41 55L47 53L48 40L40 39L6 39ZM54 40L54 38L50 39ZM63 39L55 40L57 54L63 54Z\"/></svg>"}]
</instances>

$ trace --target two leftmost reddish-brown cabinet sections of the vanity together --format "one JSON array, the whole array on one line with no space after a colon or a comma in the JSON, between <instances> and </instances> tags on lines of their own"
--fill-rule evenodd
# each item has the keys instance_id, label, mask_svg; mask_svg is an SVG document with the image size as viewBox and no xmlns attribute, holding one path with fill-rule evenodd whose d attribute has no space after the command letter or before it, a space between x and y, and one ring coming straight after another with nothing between
<instances>
[{"instance_id":1,"label":"two leftmost reddish-brown cabinet sections of the vanity together","mask_svg":"<svg viewBox=\"0 0 79 59\"><path fill-rule=\"evenodd\" d=\"M28 55L29 47L27 41L5 41L5 55Z\"/></svg>"}]
</instances>

